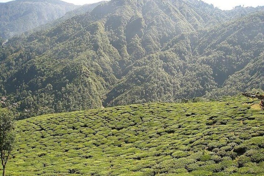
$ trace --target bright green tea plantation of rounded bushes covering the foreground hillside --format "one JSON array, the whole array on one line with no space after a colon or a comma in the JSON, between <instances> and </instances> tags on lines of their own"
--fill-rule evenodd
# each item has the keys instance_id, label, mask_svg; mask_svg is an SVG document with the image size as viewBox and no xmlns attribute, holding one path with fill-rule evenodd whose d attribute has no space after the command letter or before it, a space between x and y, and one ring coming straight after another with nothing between
<instances>
[{"instance_id":1,"label":"bright green tea plantation of rounded bushes covering the foreground hillside","mask_svg":"<svg viewBox=\"0 0 264 176\"><path fill-rule=\"evenodd\" d=\"M263 176L258 103L237 95L21 120L7 176Z\"/></svg>"}]
</instances>

